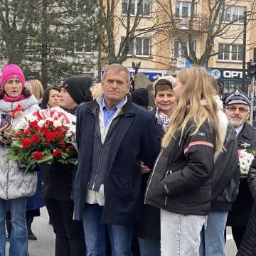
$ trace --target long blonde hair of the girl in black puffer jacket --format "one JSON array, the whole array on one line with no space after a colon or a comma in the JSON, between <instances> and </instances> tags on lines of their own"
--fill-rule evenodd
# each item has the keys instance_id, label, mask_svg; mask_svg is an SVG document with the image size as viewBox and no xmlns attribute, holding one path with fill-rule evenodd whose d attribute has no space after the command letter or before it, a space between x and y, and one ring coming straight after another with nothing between
<instances>
[{"instance_id":1,"label":"long blonde hair of the girl in black puffer jacket","mask_svg":"<svg viewBox=\"0 0 256 256\"><path fill-rule=\"evenodd\" d=\"M213 98L210 75L204 68L192 67L181 70L177 78L183 84L183 91L171 117L171 126L162 140L162 146L168 146L178 129L181 129L182 139L186 128L188 128L188 122L192 121L196 125L196 130L193 132L193 134L196 134L201 125L208 121L217 134L216 150L221 150L222 144L218 132L218 109Z\"/></svg>"}]
</instances>

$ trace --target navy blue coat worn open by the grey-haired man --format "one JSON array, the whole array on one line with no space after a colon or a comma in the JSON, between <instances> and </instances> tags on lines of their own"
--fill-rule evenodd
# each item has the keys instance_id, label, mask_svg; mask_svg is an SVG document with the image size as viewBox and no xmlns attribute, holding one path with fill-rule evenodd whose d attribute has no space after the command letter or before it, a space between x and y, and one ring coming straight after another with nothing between
<instances>
[{"instance_id":1,"label":"navy blue coat worn open by the grey-haired man","mask_svg":"<svg viewBox=\"0 0 256 256\"><path fill-rule=\"evenodd\" d=\"M95 133L96 100L78 108L77 142L78 169L75 175L75 219L82 219L87 184L92 167ZM142 212L144 195L141 191L140 161L152 168L160 150L160 136L156 121L149 111L132 103L128 97L114 127L113 143L105 179L105 206L102 223L132 225Z\"/></svg>"}]
</instances>

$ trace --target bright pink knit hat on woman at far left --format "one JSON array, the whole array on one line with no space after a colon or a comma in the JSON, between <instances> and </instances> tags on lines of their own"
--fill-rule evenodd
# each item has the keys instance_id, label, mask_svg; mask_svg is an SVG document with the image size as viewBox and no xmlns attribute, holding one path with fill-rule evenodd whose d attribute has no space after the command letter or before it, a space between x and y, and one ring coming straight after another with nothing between
<instances>
[{"instance_id":1,"label":"bright pink knit hat on woman at far left","mask_svg":"<svg viewBox=\"0 0 256 256\"><path fill-rule=\"evenodd\" d=\"M1 87L4 90L6 82L11 78L18 78L21 81L22 86L25 86L25 77L20 67L16 64L6 65L2 70L1 75Z\"/></svg>"}]
</instances>

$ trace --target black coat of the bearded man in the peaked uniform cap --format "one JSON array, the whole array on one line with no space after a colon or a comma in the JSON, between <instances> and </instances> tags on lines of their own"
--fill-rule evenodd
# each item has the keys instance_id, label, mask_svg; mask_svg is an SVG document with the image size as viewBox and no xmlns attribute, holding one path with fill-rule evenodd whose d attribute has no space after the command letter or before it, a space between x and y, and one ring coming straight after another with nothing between
<instances>
[{"instance_id":1,"label":"black coat of the bearded man in the peaked uniform cap","mask_svg":"<svg viewBox=\"0 0 256 256\"><path fill-rule=\"evenodd\" d=\"M238 134L238 149L249 149L256 147L256 129L250 124L245 124ZM233 209L228 214L227 225L246 226L250 217L253 205L253 198L247 184L247 178L240 178L239 193Z\"/></svg>"}]
</instances>

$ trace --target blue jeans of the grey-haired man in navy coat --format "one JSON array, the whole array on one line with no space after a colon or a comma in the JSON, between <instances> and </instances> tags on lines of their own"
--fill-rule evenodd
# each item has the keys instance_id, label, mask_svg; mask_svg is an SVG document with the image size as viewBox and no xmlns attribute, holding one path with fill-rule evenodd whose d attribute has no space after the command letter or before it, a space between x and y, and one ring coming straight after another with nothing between
<instances>
[{"instance_id":1,"label":"blue jeans of the grey-haired man in navy coat","mask_svg":"<svg viewBox=\"0 0 256 256\"><path fill-rule=\"evenodd\" d=\"M106 229L110 234L112 256L132 256L132 228L124 225L105 225L100 223L103 207L86 204L82 216L85 230L87 256L106 255Z\"/></svg>"}]
</instances>

